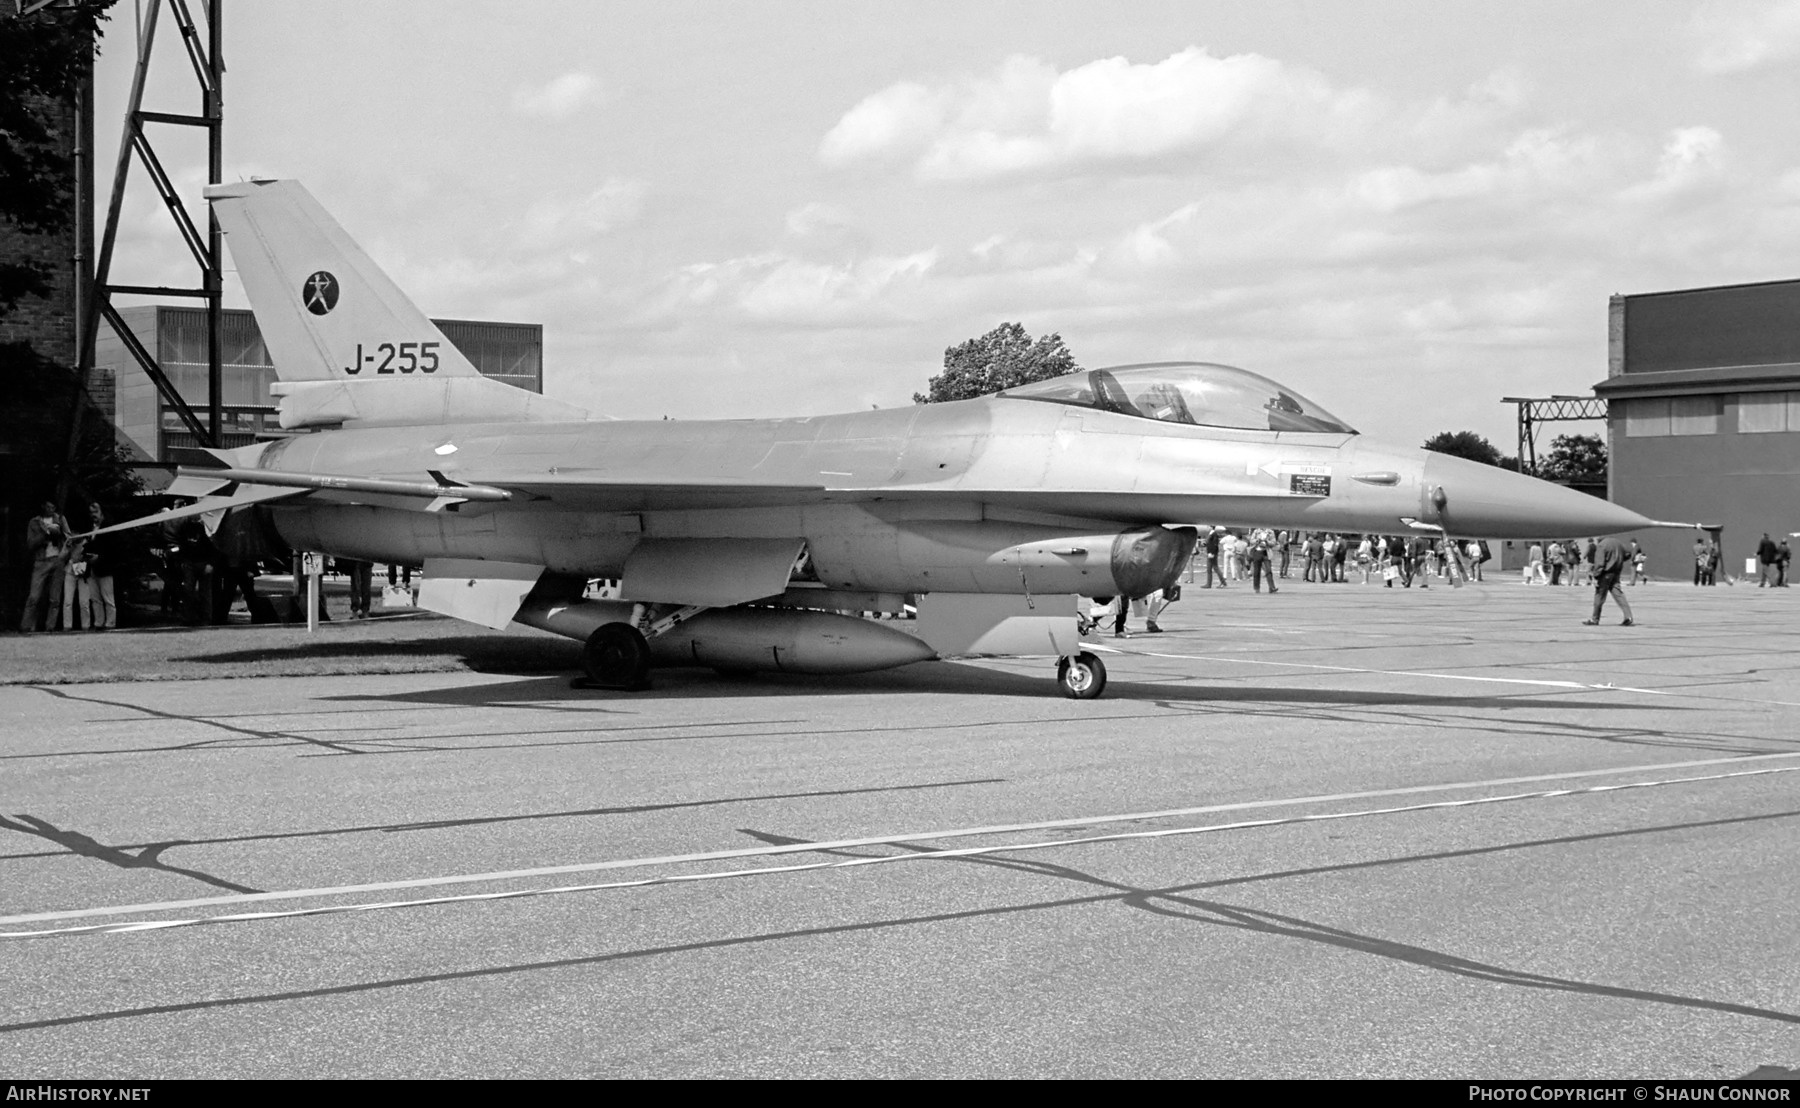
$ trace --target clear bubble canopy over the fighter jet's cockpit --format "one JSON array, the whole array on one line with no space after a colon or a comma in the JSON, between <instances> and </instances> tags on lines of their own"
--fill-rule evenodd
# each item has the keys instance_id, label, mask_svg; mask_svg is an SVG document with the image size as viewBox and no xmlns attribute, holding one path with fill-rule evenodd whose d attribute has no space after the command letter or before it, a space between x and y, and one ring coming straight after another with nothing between
<instances>
[{"instance_id":1,"label":"clear bubble canopy over the fighter jet's cockpit","mask_svg":"<svg viewBox=\"0 0 1800 1108\"><path fill-rule=\"evenodd\" d=\"M1040 399L1053 405L1098 408L1193 426L1233 426L1253 432L1312 432L1354 435L1343 419L1285 385L1231 365L1159 362L1114 365L1033 381L995 396Z\"/></svg>"}]
</instances>

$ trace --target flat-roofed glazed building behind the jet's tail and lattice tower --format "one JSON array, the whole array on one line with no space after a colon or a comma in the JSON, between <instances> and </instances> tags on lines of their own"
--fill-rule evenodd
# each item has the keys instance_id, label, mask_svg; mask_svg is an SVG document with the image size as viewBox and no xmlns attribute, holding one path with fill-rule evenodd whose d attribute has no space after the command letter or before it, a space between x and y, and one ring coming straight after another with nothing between
<instances>
[{"instance_id":1,"label":"flat-roofed glazed building behind the jet's tail and lattice tower","mask_svg":"<svg viewBox=\"0 0 1800 1108\"><path fill-rule=\"evenodd\" d=\"M205 412L207 399L207 309L167 304L124 308L119 313L144 349L155 354L162 372L189 405ZM243 308L223 311L225 344L220 446L248 446L257 437L281 432L268 387L275 381L274 363L263 345L256 317ZM477 320L432 320L455 349L497 381L527 392L544 392L544 326L495 324ZM124 342L112 327L101 327L94 349L94 374L88 380L95 401L112 414L121 446L130 446L146 460L193 460L194 437L139 369Z\"/></svg>"}]
</instances>

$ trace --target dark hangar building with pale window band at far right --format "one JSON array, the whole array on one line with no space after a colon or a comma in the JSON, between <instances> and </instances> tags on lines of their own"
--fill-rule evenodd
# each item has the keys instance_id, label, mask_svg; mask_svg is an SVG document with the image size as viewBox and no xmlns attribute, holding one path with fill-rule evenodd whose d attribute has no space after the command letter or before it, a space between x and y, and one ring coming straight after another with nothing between
<instances>
[{"instance_id":1,"label":"dark hangar building with pale window band at far right","mask_svg":"<svg viewBox=\"0 0 1800 1108\"><path fill-rule=\"evenodd\" d=\"M1719 527L1742 574L1800 531L1800 281L1615 295L1607 333L1607 498ZM1652 577L1692 579L1696 532L1636 538Z\"/></svg>"}]
</instances>

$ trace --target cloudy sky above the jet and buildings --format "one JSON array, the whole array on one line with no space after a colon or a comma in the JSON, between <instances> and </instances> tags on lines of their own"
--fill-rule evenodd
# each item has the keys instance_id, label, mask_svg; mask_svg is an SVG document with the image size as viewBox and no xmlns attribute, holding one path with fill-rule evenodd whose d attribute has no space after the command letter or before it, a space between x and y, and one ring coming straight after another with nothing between
<instances>
[{"instance_id":1,"label":"cloudy sky above the jet and buildings","mask_svg":"<svg viewBox=\"0 0 1800 1108\"><path fill-rule=\"evenodd\" d=\"M225 176L301 178L430 315L542 322L608 416L904 405L1019 320L1510 453L1501 396L1606 376L1609 293L1800 277L1800 0L227 7ZM133 182L113 275L182 281Z\"/></svg>"}]
</instances>

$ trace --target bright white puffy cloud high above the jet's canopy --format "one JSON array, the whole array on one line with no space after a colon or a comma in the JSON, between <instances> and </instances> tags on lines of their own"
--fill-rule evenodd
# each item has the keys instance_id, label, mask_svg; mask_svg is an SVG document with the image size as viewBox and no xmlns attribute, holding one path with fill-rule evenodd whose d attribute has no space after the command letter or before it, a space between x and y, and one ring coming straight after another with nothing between
<instances>
[{"instance_id":1,"label":"bright white puffy cloud high above the jet's canopy","mask_svg":"<svg viewBox=\"0 0 1800 1108\"><path fill-rule=\"evenodd\" d=\"M819 158L911 160L925 180L994 178L1157 158L1233 135L1321 137L1366 104L1366 94L1260 54L1188 47L1156 63L1102 58L1066 72L1015 56L985 77L866 97L826 133Z\"/></svg>"}]
</instances>

